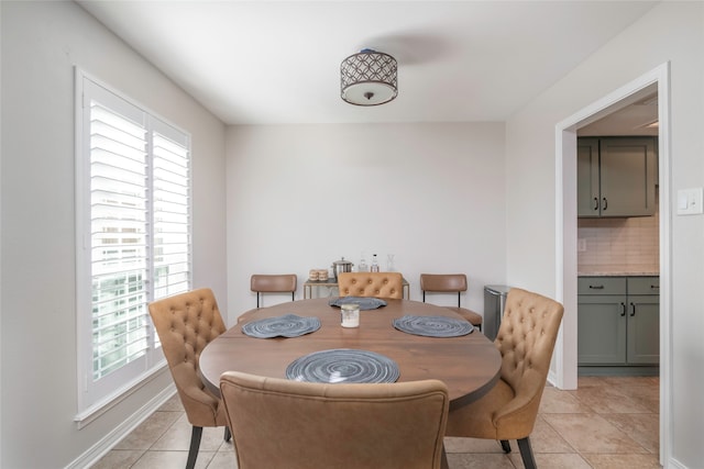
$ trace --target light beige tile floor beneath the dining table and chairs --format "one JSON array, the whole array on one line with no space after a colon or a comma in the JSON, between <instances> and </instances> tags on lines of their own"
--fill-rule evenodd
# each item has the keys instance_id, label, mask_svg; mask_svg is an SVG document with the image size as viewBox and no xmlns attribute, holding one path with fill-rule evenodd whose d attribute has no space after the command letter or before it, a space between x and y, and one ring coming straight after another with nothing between
<instances>
[{"instance_id":1,"label":"light beige tile floor beneath the dining table and chairs","mask_svg":"<svg viewBox=\"0 0 704 469\"><path fill-rule=\"evenodd\" d=\"M660 468L659 379L581 377L576 391L547 387L530 437L540 469ZM222 428L204 428L198 469L237 469ZM182 469L190 425L177 397L120 442L94 469ZM516 442L446 438L450 469L521 469Z\"/></svg>"}]
</instances>

